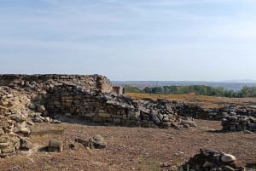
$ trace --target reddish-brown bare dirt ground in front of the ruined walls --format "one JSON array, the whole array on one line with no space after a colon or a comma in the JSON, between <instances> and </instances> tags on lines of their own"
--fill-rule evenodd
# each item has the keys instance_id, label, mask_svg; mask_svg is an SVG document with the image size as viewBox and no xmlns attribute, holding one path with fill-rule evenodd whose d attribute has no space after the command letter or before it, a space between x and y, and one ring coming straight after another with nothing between
<instances>
[{"instance_id":1,"label":"reddish-brown bare dirt ground in front of the ruined walls","mask_svg":"<svg viewBox=\"0 0 256 171\"><path fill-rule=\"evenodd\" d=\"M195 120L197 128L128 128L88 125L83 123L40 123L32 128L34 145L29 157L0 159L0 170L20 166L20 171L97 171L97 170L170 170L193 157L201 148L231 153L242 162L256 162L256 134L223 133L218 121ZM107 148L97 150L74 143L101 134ZM61 153L48 153L40 148L49 140L63 140ZM75 149L68 148L70 143Z\"/></svg>"}]
</instances>

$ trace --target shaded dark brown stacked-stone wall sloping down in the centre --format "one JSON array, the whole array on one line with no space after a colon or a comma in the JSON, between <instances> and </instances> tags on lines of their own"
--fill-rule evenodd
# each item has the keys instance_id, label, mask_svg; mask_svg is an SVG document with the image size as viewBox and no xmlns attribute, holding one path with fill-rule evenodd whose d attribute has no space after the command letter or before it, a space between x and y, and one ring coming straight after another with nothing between
<instances>
[{"instance_id":1,"label":"shaded dark brown stacked-stone wall sloping down in the centre","mask_svg":"<svg viewBox=\"0 0 256 171\"><path fill-rule=\"evenodd\" d=\"M165 100L133 100L124 95L87 92L72 85L55 86L48 94L46 108L51 114L142 127L167 128L173 121L173 106Z\"/></svg>"}]
</instances>

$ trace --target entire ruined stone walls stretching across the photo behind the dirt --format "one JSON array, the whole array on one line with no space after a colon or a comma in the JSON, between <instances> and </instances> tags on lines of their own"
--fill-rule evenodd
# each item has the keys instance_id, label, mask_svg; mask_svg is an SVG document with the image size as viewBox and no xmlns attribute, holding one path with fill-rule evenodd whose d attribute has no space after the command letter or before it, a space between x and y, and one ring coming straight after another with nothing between
<instances>
[{"instance_id":1,"label":"entire ruined stone walls stretching across the photo behind the dirt","mask_svg":"<svg viewBox=\"0 0 256 171\"><path fill-rule=\"evenodd\" d=\"M146 128L196 127L193 118L222 121L225 131L256 131L256 110L206 109L169 100L138 100L100 75L0 75L0 157L32 148L34 123L69 122Z\"/></svg>"}]
</instances>

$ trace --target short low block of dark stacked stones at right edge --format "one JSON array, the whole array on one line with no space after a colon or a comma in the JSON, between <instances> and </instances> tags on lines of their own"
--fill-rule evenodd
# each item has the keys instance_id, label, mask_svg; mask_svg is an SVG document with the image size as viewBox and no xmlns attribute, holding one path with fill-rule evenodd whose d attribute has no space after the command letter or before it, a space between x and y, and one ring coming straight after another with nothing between
<instances>
[{"instance_id":1,"label":"short low block of dark stacked stones at right edge","mask_svg":"<svg viewBox=\"0 0 256 171\"><path fill-rule=\"evenodd\" d=\"M256 118L241 116L235 112L224 113L222 126L225 131L256 131Z\"/></svg>"}]
</instances>

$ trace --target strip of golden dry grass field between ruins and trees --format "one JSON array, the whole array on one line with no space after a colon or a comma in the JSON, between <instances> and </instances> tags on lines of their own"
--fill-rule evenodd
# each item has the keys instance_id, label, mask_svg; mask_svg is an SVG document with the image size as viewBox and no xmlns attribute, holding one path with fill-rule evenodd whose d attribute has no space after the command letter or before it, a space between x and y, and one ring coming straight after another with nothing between
<instances>
[{"instance_id":1,"label":"strip of golden dry grass field between ruins and trees","mask_svg":"<svg viewBox=\"0 0 256 171\"><path fill-rule=\"evenodd\" d=\"M196 94L135 94L135 93L126 93L131 97L137 99L150 98L152 100L157 99L166 99L166 100L179 100L186 103L192 103L201 105L203 107L221 107L225 104L234 104L234 105L255 105L256 98L226 98L226 97L215 97L215 96L205 96L205 95L196 95Z\"/></svg>"}]
</instances>

